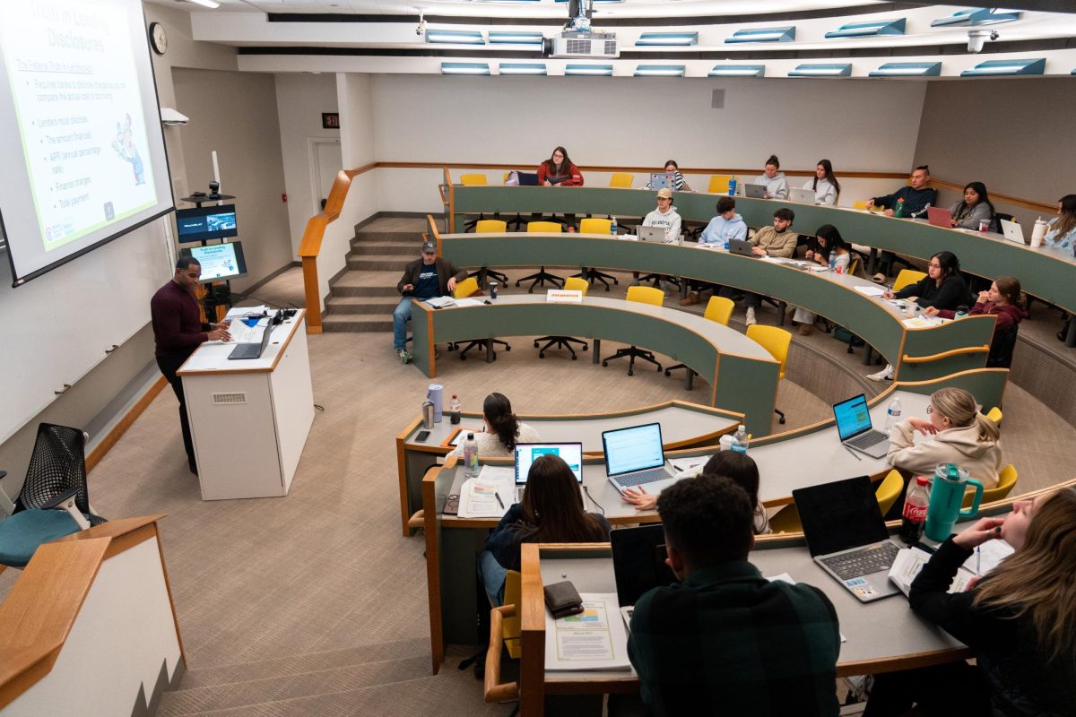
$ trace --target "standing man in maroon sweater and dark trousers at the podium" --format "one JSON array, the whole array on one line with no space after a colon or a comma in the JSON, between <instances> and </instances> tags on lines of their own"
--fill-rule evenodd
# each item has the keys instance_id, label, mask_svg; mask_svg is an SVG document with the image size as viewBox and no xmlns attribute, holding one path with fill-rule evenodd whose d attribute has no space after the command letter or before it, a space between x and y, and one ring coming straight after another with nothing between
<instances>
[{"instance_id":1,"label":"standing man in maroon sweater and dark trousers at the podium","mask_svg":"<svg viewBox=\"0 0 1076 717\"><path fill-rule=\"evenodd\" d=\"M198 301L195 288L201 275L201 266L193 257L180 257L175 262L175 275L153 295L150 300L150 316L153 321L153 338L156 342L157 365L165 378L172 385L175 398L180 400L180 427L183 429L183 447L187 451L190 472L198 475L195 448L190 441L190 424L187 420L187 404L183 400L183 382L175 372L204 341L228 341L227 321L206 324L199 320Z\"/></svg>"}]
</instances>

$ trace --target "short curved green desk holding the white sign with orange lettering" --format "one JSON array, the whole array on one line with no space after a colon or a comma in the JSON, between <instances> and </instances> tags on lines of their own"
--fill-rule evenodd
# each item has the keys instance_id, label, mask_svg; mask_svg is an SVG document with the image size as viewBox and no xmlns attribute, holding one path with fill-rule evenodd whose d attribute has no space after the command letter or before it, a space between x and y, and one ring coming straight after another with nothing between
<instances>
[{"instance_id":1,"label":"short curved green desk holding the white sign with orange lettering","mask_svg":"<svg viewBox=\"0 0 1076 717\"><path fill-rule=\"evenodd\" d=\"M777 362L739 331L690 312L604 297L549 303L543 296L524 293L490 305L441 310L415 302L411 330L414 364L427 376L436 375L434 345L439 342L561 334L643 346L691 367L712 387L710 405L745 414L754 435L770 430ZM595 361L598 354L595 342Z\"/></svg>"}]
</instances>

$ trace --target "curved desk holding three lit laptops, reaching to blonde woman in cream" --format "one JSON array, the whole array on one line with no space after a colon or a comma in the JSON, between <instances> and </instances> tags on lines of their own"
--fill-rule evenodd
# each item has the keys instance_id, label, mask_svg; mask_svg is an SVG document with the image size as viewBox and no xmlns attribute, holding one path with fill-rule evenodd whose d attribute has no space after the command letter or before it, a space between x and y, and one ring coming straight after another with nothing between
<instances>
[{"instance_id":1,"label":"curved desk holding three lit laptops, reaching to blonde woman in cream","mask_svg":"<svg viewBox=\"0 0 1076 717\"><path fill-rule=\"evenodd\" d=\"M943 386L964 388L989 408L1001 403L1006 374L1003 369L980 369L931 382L891 386L870 400L872 420L876 427L884 426L886 410L893 398L901 399L905 415L924 416L930 395ZM712 454L712 448L694 448L674 451L670 457L697 457L697 462L704 463ZM840 444L832 419L752 441L749 454L759 464L762 478L759 500L769 507L790 503L796 488L858 475L869 475L877 481L890 470L884 459L867 456L858 459L849 453ZM482 550L489 530L497 525L493 518L468 519L441 513L445 498L458 493L462 483L454 459L429 471L422 482L435 672L440 666L444 643L475 643L475 556ZM620 499L599 458L583 459L583 484L592 499L584 499L586 510L603 512L614 526L659 519L656 513L638 512ZM595 507L595 502L601 511Z\"/></svg>"}]
</instances>

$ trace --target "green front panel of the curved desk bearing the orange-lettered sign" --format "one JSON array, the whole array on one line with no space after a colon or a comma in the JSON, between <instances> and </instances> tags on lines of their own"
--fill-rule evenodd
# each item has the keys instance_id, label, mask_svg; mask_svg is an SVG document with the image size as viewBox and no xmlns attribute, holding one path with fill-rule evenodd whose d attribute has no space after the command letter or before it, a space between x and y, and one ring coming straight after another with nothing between
<instances>
[{"instance_id":1,"label":"green front panel of the curved desk bearing the orange-lettered sign","mask_svg":"<svg viewBox=\"0 0 1076 717\"><path fill-rule=\"evenodd\" d=\"M423 306L415 311L415 317L426 312L429 310ZM777 363L723 355L719 365L718 349L710 341L672 321L614 309L553 303L443 309L433 312L431 318L433 336L422 321L414 321L414 363L426 375L430 375L427 346L431 340L543 334L611 339L660 352L691 367L705 381L716 384L723 408L746 414L748 430L760 436L769 433L777 393ZM717 405L712 396L707 402ZM565 408L584 411L585 406Z\"/></svg>"}]
</instances>

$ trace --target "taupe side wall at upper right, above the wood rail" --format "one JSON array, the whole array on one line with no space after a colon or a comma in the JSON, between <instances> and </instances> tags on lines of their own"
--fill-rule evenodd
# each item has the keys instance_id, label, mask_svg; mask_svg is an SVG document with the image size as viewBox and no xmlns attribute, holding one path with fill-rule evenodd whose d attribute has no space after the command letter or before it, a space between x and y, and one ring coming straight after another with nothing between
<instances>
[{"instance_id":1,"label":"taupe side wall at upper right, above the wood rail","mask_svg":"<svg viewBox=\"0 0 1076 717\"><path fill-rule=\"evenodd\" d=\"M982 182L990 192L1053 204L1076 192L1073 117L1076 80L999 78L933 82L923 102L916 163L964 185ZM959 195L945 190L948 206ZM1030 231L1038 212L994 202Z\"/></svg>"}]
</instances>

